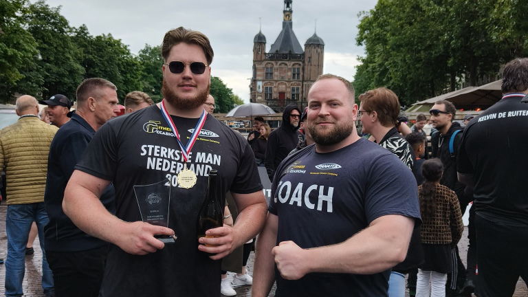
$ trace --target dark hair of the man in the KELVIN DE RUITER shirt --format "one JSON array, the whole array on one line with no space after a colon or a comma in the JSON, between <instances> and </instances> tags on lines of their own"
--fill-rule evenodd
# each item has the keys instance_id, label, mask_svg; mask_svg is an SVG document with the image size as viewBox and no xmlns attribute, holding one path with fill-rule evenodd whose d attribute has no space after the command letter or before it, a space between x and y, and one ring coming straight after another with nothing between
<instances>
[{"instance_id":1,"label":"dark hair of the man in the KELVIN DE RUITER shirt","mask_svg":"<svg viewBox=\"0 0 528 297\"><path fill-rule=\"evenodd\" d=\"M503 84L500 90L503 94L522 92L528 89L528 58L516 58L504 67Z\"/></svg>"}]
</instances>

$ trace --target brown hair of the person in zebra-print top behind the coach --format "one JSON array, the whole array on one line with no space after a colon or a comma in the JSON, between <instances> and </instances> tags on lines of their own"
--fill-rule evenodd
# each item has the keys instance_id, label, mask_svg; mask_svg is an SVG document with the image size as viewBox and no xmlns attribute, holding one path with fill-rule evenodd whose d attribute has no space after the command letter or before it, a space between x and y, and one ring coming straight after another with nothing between
<instances>
[{"instance_id":1,"label":"brown hair of the person in zebra-print top behind the coach","mask_svg":"<svg viewBox=\"0 0 528 297\"><path fill-rule=\"evenodd\" d=\"M363 109L369 113L376 111L383 126L395 126L399 115L398 96L390 89L380 87L360 95Z\"/></svg>"}]
</instances>

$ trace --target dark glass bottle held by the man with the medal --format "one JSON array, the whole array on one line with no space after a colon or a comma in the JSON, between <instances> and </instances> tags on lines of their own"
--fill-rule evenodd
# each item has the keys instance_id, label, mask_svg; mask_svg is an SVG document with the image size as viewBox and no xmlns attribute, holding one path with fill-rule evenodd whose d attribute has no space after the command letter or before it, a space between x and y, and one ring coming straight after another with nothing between
<instances>
[{"instance_id":1,"label":"dark glass bottle held by the man with the medal","mask_svg":"<svg viewBox=\"0 0 528 297\"><path fill-rule=\"evenodd\" d=\"M206 200L203 201L196 224L197 238L206 236L206 231L223 226L223 211L220 206L220 188L217 181L217 170L210 170ZM212 245L206 245L212 246Z\"/></svg>"}]
</instances>

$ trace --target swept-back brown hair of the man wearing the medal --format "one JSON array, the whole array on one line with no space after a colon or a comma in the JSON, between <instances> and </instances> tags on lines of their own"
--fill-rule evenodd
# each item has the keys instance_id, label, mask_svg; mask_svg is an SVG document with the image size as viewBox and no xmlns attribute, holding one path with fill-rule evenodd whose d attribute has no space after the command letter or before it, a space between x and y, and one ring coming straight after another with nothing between
<instances>
[{"instance_id":1,"label":"swept-back brown hair of the man wearing the medal","mask_svg":"<svg viewBox=\"0 0 528 297\"><path fill-rule=\"evenodd\" d=\"M165 33L161 46L162 56L165 63L167 62L170 49L173 48L173 45L177 45L179 43L194 44L201 47L203 53L206 54L207 64L211 65L214 52L212 52L212 47L207 36L199 31L193 31L183 27L173 29Z\"/></svg>"}]
</instances>

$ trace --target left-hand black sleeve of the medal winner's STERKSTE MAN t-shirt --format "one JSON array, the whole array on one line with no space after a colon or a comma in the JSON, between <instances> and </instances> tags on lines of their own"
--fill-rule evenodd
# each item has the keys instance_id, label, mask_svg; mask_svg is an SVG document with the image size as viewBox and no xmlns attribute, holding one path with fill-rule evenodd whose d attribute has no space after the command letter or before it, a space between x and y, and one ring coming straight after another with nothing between
<instances>
[{"instance_id":1,"label":"left-hand black sleeve of the medal winner's STERKSTE MAN t-shirt","mask_svg":"<svg viewBox=\"0 0 528 297\"><path fill-rule=\"evenodd\" d=\"M77 170L113 181L118 168L118 135L113 128L110 123L101 126L75 166Z\"/></svg>"}]
</instances>

